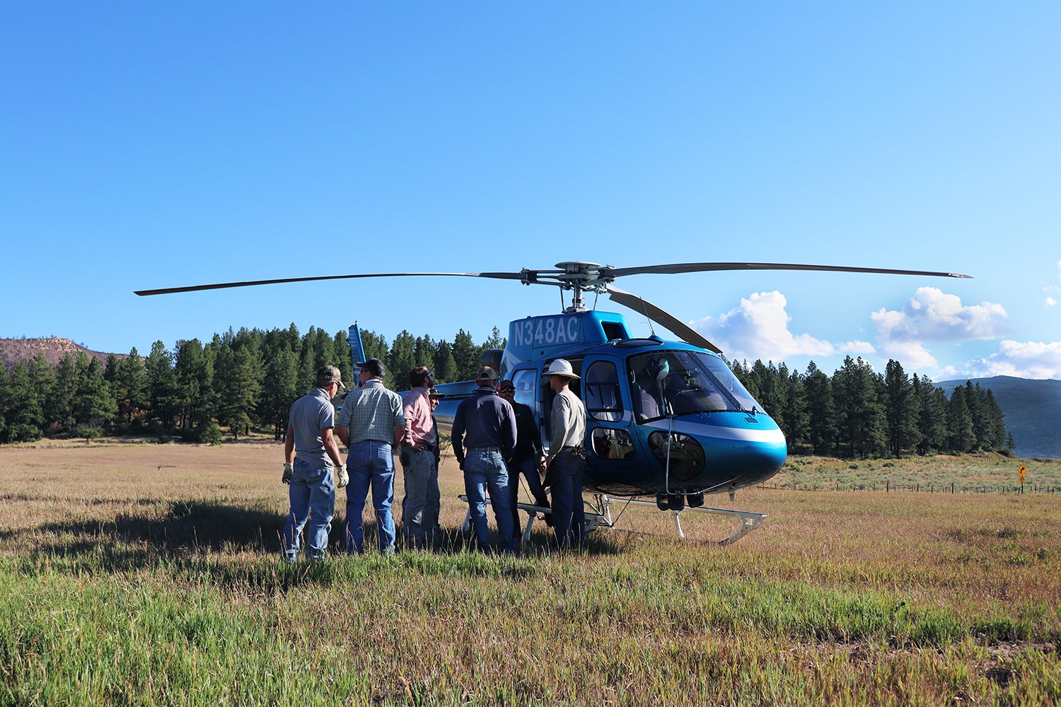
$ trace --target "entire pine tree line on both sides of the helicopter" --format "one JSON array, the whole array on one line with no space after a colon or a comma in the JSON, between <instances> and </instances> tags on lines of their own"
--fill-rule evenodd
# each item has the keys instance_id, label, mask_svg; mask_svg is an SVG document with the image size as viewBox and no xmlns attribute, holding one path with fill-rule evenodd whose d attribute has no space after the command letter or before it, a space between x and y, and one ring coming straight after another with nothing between
<instances>
[{"instance_id":1,"label":"entire pine tree line on both sides of the helicopter","mask_svg":"<svg viewBox=\"0 0 1061 707\"><path fill-rule=\"evenodd\" d=\"M480 343L463 329L452 341L407 331L389 344L370 331L361 338L365 355L385 363L384 383L398 391L408 389L408 371L421 364L439 383L474 378L483 352L505 346L497 326ZM40 354L0 374L0 442L105 434L216 442L222 428L239 439L251 427L280 439L291 403L326 365L352 383L346 331L229 329L205 344L181 339L168 349L155 341L146 356L134 348L102 365L79 352L53 367ZM991 390L972 382L947 397L927 377L908 376L898 361L875 373L850 356L831 376L814 363L802 373L762 360L731 361L730 368L784 430L793 452L867 458L1015 448Z\"/></svg>"}]
</instances>

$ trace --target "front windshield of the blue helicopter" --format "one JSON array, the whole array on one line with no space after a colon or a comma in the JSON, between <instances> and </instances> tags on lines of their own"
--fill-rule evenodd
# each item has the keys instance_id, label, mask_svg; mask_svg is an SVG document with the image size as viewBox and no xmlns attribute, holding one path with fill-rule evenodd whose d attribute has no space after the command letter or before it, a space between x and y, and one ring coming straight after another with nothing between
<instances>
[{"instance_id":1,"label":"front windshield of the blue helicopter","mask_svg":"<svg viewBox=\"0 0 1061 707\"><path fill-rule=\"evenodd\" d=\"M755 399L717 356L656 351L627 359L639 420L695 412L751 411Z\"/></svg>"}]
</instances>

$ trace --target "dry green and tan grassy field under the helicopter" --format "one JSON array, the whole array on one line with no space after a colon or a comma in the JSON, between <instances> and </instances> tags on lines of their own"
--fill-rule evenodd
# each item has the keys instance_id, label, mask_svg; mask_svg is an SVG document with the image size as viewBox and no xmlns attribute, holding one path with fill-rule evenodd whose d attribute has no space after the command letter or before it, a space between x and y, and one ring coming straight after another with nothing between
<instances>
[{"instance_id":1,"label":"dry green and tan grassy field under the helicopter","mask_svg":"<svg viewBox=\"0 0 1061 707\"><path fill-rule=\"evenodd\" d=\"M449 460L439 551L286 566L281 455L0 447L0 705L1061 702L1061 494L895 491L1061 463L795 458L710 499L769 514L734 545L616 503L585 553L497 558Z\"/></svg>"}]
</instances>

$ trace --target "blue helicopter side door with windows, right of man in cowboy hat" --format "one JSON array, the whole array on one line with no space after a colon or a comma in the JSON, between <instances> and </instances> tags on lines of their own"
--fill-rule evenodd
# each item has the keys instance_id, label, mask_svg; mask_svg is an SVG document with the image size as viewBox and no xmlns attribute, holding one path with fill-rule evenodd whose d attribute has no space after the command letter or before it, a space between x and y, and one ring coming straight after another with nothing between
<instances>
[{"instance_id":1,"label":"blue helicopter side door with windows, right of man in cowboy hat","mask_svg":"<svg viewBox=\"0 0 1061 707\"><path fill-rule=\"evenodd\" d=\"M624 460L634 456L628 405L623 403L615 361L603 358L582 367L582 401L590 448L599 459Z\"/></svg>"}]
</instances>

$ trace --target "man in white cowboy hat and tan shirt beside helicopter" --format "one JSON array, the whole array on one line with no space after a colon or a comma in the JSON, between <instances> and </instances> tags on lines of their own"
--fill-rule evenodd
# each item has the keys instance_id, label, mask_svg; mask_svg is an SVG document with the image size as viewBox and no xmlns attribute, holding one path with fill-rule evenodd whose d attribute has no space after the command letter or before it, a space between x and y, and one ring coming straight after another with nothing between
<instances>
[{"instance_id":1,"label":"man in white cowboy hat and tan shirt beside helicopter","mask_svg":"<svg viewBox=\"0 0 1061 707\"><path fill-rule=\"evenodd\" d=\"M545 467L556 465L553 484L553 530L561 550L582 549L586 515L582 509L582 472L586 470L586 408L571 390L578 378L571 364L557 358L545 371L553 397L553 440Z\"/></svg>"}]
</instances>

